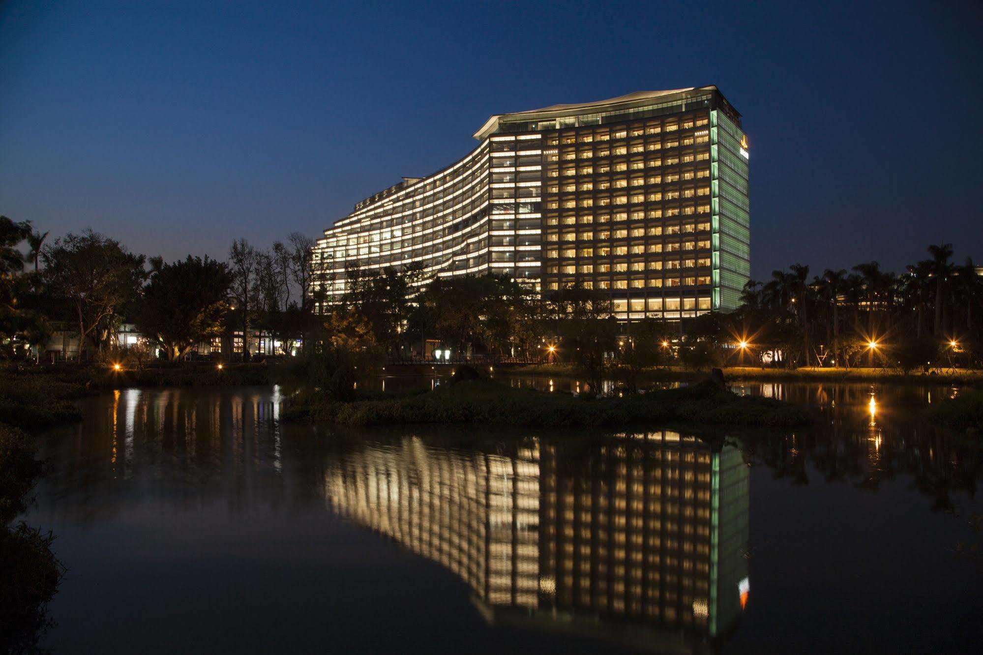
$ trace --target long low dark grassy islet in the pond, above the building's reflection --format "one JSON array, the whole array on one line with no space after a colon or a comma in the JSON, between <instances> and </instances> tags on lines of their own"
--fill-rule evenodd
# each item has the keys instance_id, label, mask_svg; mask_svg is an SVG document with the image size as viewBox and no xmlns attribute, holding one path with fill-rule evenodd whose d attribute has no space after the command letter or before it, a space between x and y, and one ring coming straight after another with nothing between
<instances>
[{"instance_id":1,"label":"long low dark grassy islet in the pond, above the building's reflection","mask_svg":"<svg viewBox=\"0 0 983 655\"><path fill-rule=\"evenodd\" d=\"M476 423L527 427L620 427L633 423L694 423L786 427L809 423L795 405L742 397L710 383L624 397L587 398L485 380L462 382L393 399L338 402L314 397L291 419L344 425Z\"/></svg>"}]
</instances>

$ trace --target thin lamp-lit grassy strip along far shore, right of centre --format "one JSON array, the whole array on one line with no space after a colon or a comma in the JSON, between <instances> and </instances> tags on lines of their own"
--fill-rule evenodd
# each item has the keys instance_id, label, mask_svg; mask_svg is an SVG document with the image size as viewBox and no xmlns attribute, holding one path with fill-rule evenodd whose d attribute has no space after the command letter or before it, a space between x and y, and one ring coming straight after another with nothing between
<instances>
[{"instance_id":1,"label":"thin lamp-lit grassy strip along far shore, right of centre","mask_svg":"<svg viewBox=\"0 0 983 655\"><path fill-rule=\"evenodd\" d=\"M535 375L551 377L576 377L578 372L572 364L531 364L508 369L514 375ZM618 380L623 370L612 368L607 377ZM885 382L898 384L957 384L971 385L983 383L983 371L953 371L951 369L932 369L903 373L896 369L868 368L816 368L763 369L760 367L726 367L723 376L727 380L760 380L763 382ZM641 380L647 382L681 381L693 382L706 377L706 372L693 371L682 367L647 369Z\"/></svg>"}]
</instances>

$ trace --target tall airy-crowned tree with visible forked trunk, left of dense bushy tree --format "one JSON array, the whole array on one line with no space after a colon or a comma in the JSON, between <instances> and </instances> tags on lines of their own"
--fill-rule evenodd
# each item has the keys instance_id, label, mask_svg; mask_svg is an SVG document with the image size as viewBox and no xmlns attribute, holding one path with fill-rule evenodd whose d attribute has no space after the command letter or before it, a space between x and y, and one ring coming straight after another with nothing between
<instances>
[{"instance_id":1,"label":"tall airy-crowned tree with visible forked trunk, left of dense bushy tree","mask_svg":"<svg viewBox=\"0 0 983 655\"><path fill-rule=\"evenodd\" d=\"M101 328L108 334L116 313L137 298L145 279L145 258L118 241L87 229L67 234L41 255L51 291L68 301L79 324L79 359L93 337L101 347Z\"/></svg>"}]
</instances>

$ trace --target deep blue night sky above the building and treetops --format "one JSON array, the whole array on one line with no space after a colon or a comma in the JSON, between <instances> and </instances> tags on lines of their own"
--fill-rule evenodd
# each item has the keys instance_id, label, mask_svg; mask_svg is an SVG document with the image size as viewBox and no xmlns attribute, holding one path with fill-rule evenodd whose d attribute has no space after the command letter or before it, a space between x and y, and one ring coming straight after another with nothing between
<instances>
[{"instance_id":1,"label":"deep blue night sky above the building and treetops","mask_svg":"<svg viewBox=\"0 0 983 655\"><path fill-rule=\"evenodd\" d=\"M979 3L285 4L0 4L0 213L224 259L319 236L492 113L716 84L754 276L983 260Z\"/></svg>"}]
</instances>

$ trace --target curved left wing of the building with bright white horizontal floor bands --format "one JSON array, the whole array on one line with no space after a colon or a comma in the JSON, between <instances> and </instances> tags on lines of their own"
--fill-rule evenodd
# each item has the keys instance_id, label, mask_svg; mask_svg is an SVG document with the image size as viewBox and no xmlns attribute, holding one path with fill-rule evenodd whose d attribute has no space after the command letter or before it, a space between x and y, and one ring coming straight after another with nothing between
<instances>
[{"instance_id":1,"label":"curved left wing of the building with bright white horizontal floor bands","mask_svg":"<svg viewBox=\"0 0 983 655\"><path fill-rule=\"evenodd\" d=\"M324 290L344 293L352 268L410 264L426 278L494 272L536 283L541 157L539 135L492 138L429 177L358 203L318 240Z\"/></svg>"}]
</instances>

